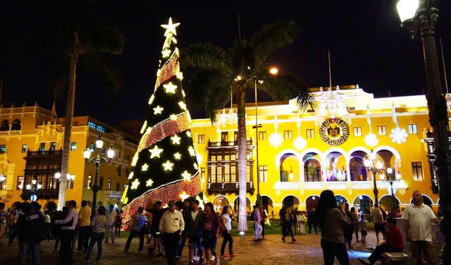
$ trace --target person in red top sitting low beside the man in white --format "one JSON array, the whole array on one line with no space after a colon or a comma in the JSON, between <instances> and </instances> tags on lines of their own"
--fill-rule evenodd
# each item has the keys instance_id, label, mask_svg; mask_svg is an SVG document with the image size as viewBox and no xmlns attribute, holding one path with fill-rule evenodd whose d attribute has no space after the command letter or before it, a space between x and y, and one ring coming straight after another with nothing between
<instances>
[{"instance_id":1,"label":"person in red top sitting low beside the man in white","mask_svg":"<svg viewBox=\"0 0 451 265\"><path fill-rule=\"evenodd\" d=\"M384 252L402 252L402 249L404 248L402 233L400 228L396 226L395 218L388 217L387 221L385 221L384 237L385 242L378 245L368 259L359 259L359 261L363 264L373 265L378 259L381 259L381 255Z\"/></svg>"}]
</instances>

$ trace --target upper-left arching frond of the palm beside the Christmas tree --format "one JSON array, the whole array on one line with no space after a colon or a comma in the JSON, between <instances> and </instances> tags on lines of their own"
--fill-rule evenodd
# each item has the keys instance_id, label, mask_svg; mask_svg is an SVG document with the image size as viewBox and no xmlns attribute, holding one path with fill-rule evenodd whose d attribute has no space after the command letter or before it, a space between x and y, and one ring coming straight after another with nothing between
<instances>
[{"instance_id":1,"label":"upper-left arching frond of the palm beside the Christmas tree","mask_svg":"<svg viewBox=\"0 0 451 265\"><path fill-rule=\"evenodd\" d=\"M226 64L226 51L210 43L190 44L183 48L180 51L180 66L230 73Z\"/></svg>"}]
</instances>

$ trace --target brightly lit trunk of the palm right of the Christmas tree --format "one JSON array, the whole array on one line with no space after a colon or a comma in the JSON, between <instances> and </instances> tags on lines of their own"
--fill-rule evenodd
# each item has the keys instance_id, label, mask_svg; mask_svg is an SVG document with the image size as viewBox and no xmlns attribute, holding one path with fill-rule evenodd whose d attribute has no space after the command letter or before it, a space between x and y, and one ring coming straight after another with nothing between
<instances>
[{"instance_id":1,"label":"brightly lit trunk of the palm right of the Christmas tree","mask_svg":"<svg viewBox=\"0 0 451 265\"><path fill-rule=\"evenodd\" d=\"M246 214L246 171L247 171L247 137L246 137L246 109L245 109L245 87L237 85L238 101L238 181L240 187L240 207L238 209L238 230L247 231Z\"/></svg>"}]
</instances>

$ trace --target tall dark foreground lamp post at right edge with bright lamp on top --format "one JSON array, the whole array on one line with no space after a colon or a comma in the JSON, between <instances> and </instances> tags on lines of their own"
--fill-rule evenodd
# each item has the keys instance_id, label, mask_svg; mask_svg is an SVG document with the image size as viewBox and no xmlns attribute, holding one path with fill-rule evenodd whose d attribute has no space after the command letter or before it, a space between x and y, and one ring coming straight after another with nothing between
<instances>
[{"instance_id":1,"label":"tall dark foreground lamp post at right edge with bright lamp on top","mask_svg":"<svg viewBox=\"0 0 451 265\"><path fill-rule=\"evenodd\" d=\"M451 264L451 168L450 143L446 100L440 82L437 49L435 45L435 22L438 19L436 0L400 0L397 11L402 27L407 27L412 39L419 32L423 42L424 65L426 68L429 123L433 128L435 174L438 178L440 208L443 219L440 227L445 234L443 264ZM445 229L447 228L447 229Z\"/></svg>"}]
</instances>

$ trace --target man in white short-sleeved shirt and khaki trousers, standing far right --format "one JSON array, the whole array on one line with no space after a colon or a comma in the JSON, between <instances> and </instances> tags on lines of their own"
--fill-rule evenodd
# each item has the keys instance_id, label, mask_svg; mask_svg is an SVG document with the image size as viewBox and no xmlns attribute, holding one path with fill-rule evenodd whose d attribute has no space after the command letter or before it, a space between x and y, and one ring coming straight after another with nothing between
<instances>
[{"instance_id":1,"label":"man in white short-sleeved shirt and khaki trousers, standing far right","mask_svg":"<svg viewBox=\"0 0 451 265\"><path fill-rule=\"evenodd\" d=\"M416 264L423 264L423 259L428 264L435 264L433 257L433 245L431 236L431 222L438 223L431 207L423 204L423 195L415 190L413 204L402 211L407 241L410 242L412 259ZM423 254L424 257L421 257Z\"/></svg>"}]
</instances>

